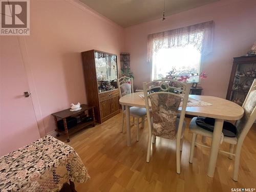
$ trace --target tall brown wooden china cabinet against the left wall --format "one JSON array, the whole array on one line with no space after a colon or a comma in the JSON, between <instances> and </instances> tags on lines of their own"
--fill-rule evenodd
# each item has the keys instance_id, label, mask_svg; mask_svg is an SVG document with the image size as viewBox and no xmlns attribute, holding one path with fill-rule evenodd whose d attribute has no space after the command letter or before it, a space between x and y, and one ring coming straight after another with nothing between
<instances>
[{"instance_id":1,"label":"tall brown wooden china cabinet against the left wall","mask_svg":"<svg viewBox=\"0 0 256 192\"><path fill-rule=\"evenodd\" d=\"M120 113L117 55L96 50L82 52L88 103L95 105L95 119L102 123Z\"/></svg>"}]
</instances>

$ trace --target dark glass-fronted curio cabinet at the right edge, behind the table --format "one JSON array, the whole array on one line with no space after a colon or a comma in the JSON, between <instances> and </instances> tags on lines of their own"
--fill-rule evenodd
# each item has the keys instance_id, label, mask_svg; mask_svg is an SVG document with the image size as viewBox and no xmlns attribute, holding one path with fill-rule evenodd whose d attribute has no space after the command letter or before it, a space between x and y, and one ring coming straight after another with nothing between
<instances>
[{"instance_id":1,"label":"dark glass-fronted curio cabinet at the right edge, behind the table","mask_svg":"<svg viewBox=\"0 0 256 192\"><path fill-rule=\"evenodd\" d=\"M234 57L226 99L242 105L255 78L256 56Z\"/></svg>"}]
</instances>

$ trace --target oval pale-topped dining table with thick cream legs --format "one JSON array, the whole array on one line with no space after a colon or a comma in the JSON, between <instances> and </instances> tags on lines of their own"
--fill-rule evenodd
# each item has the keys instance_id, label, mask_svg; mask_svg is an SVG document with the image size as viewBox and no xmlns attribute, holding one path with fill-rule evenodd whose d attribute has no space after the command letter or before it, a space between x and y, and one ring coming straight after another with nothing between
<instances>
[{"instance_id":1,"label":"oval pale-topped dining table with thick cream legs","mask_svg":"<svg viewBox=\"0 0 256 192\"><path fill-rule=\"evenodd\" d=\"M143 95L143 92L135 92L124 95L119 99L119 103L125 106L127 146L131 146L130 107L146 107L145 100L141 98L141 95ZM214 133L211 141L210 157L207 170L207 175L209 177L214 177L223 122L224 120L233 121L242 118L244 110L240 105L219 97L189 95L189 98L211 104L202 106L187 106L185 114L215 118ZM181 108L179 108L179 111L180 110Z\"/></svg>"}]
</instances>

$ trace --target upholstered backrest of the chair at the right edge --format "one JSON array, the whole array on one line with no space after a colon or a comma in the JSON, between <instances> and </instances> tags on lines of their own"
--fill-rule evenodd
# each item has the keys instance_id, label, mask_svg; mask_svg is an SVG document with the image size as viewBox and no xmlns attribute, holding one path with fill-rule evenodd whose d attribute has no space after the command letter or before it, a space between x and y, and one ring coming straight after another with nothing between
<instances>
[{"instance_id":1,"label":"upholstered backrest of the chair at the right edge","mask_svg":"<svg viewBox=\"0 0 256 192\"><path fill-rule=\"evenodd\" d=\"M256 79L254 79L242 107L244 109L244 115L236 122L239 143L244 141L252 124L256 120Z\"/></svg>"}]
</instances>

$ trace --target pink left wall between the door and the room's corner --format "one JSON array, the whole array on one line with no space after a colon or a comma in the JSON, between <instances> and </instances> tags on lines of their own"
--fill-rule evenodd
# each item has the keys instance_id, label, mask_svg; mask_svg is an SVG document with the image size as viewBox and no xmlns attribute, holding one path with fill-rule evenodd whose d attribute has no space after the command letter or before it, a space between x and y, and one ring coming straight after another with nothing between
<instances>
[{"instance_id":1,"label":"pink left wall between the door and the room's corner","mask_svg":"<svg viewBox=\"0 0 256 192\"><path fill-rule=\"evenodd\" d=\"M27 61L42 136L55 129L51 113L69 108L72 102L87 103L81 52L97 49L119 55L124 30L76 0L30 1L30 15L30 36L19 37L20 52ZM16 43L13 46L18 47Z\"/></svg>"}]
</instances>

